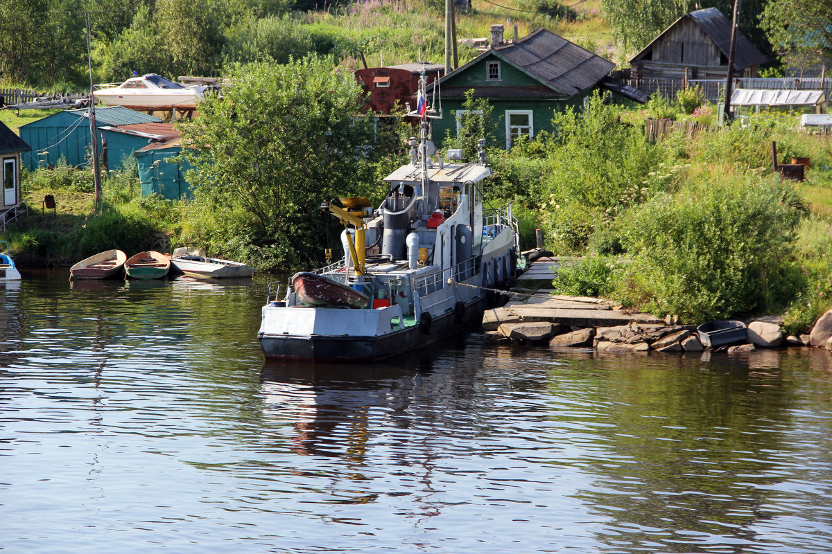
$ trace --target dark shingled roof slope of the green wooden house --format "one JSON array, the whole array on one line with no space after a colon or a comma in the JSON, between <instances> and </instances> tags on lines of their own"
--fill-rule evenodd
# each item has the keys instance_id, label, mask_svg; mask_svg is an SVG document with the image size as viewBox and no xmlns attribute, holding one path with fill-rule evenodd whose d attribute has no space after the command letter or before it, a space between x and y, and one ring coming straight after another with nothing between
<instances>
[{"instance_id":1,"label":"dark shingled roof slope of the green wooden house","mask_svg":"<svg viewBox=\"0 0 832 554\"><path fill-rule=\"evenodd\" d=\"M565 96L594 86L615 67L612 61L542 27L516 42L493 47L490 52L525 69Z\"/></svg>"}]
</instances>

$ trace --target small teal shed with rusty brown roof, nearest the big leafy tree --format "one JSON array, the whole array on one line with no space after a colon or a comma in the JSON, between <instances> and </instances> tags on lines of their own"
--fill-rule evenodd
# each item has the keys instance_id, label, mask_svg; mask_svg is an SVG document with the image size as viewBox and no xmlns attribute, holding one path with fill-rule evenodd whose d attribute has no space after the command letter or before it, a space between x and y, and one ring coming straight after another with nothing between
<instances>
[{"instance_id":1,"label":"small teal shed with rusty brown roof, nearest the big leafy tree","mask_svg":"<svg viewBox=\"0 0 832 554\"><path fill-rule=\"evenodd\" d=\"M191 198L191 185L185 179L191 164L172 160L181 151L181 141L177 136L175 139L153 142L133 153L139 165L142 196L156 193L170 200Z\"/></svg>"}]
</instances>

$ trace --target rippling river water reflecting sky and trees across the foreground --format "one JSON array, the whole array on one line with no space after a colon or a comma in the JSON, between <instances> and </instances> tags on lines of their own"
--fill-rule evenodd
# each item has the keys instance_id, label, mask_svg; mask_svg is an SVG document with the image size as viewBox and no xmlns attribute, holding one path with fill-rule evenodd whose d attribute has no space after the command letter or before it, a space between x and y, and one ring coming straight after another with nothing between
<instances>
[{"instance_id":1,"label":"rippling river water reflecting sky and trees across the foreground","mask_svg":"<svg viewBox=\"0 0 832 554\"><path fill-rule=\"evenodd\" d=\"M266 279L0 285L6 552L832 552L832 355L265 363Z\"/></svg>"}]
</instances>

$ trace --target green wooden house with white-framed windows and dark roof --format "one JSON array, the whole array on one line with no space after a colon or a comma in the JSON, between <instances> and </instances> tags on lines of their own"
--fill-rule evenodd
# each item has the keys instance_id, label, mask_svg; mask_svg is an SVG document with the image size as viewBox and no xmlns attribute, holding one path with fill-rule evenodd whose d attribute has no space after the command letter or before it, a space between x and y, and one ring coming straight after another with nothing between
<instances>
[{"instance_id":1,"label":"green wooden house with white-framed windows and dark roof","mask_svg":"<svg viewBox=\"0 0 832 554\"><path fill-rule=\"evenodd\" d=\"M441 146L455 135L464 113L465 93L488 98L498 124L498 145L511 148L519 135L552 131L552 115L567 106L580 109L597 89L636 101L647 96L607 74L615 64L543 28L515 41L503 40L503 26L491 27L488 50L438 81L442 118L432 122L433 141ZM433 84L437 86L437 84ZM428 98L433 95L428 87Z\"/></svg>"}]
</instances>

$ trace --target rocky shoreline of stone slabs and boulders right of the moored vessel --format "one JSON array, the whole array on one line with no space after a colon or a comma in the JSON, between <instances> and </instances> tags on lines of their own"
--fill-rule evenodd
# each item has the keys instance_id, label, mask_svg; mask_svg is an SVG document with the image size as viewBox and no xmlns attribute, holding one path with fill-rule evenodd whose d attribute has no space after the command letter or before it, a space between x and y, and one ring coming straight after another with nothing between
<instances>
[{"instance_id":1,"label":"rocky shoreline of stone slabs and boulders right of the moored vessel","mask_svg":"<svg viewBox=\"0 0 832 554\"><path fill-rule=\"evenodd\" d=\"M745 321L745 340L711 347L703 344L696 325L676 325L650 314L622 310L600 298L568 297L546 290L524 296L520 302L485 311L483 330L487 342L592 347L611 353L711 350L734 354L788 346L824 347L832 351L832 311L820 317L808 335L785 336L781 319L765 316Z\"/></svg>"}]
</instances>

